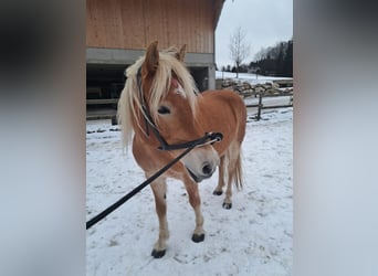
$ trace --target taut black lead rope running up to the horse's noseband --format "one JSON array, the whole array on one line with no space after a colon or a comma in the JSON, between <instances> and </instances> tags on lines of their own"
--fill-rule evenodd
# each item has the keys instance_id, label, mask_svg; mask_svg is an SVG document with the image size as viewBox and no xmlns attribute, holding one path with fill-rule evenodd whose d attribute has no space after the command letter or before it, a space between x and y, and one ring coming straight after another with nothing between
<instances>
[{"instance_id":1,"label":"taut black lead rope running up to the horse's noseband","mask_svg":"<svg viewBox=\"0 0 378 276\"><path fill-rule=\"evenodd\" d=\"M117 202L115 202L113 205L105 209L103 212L91 219L86 222L86 230L91 229L94 224L103 220L105 216L107 216L109 213L118 209L122 204L124 204L126 201L128 201L130 198L133 198L136 193L141 191L146 185L151 183L154 180L156 180L158 177L160 177L162 173L165 173L170 167L172 167L177 161L179 161L182 157L188 155L193 148L198 146L204 146L208 144L213 144L216 141L222 140L222 134L220 132L210 132L206 134L202 138L197 139L196 142L192 142L189 148L187 148L181 155L176 157L172 161L170 161L168 164L166 164L164 168L161 168L159 171L157 171L154 176L151 176L149 179L147 179L145 182L136 187L133 191L127 193L125 197L119 199ZM209 140L210 139L210 140ZM209 140L209 141L208 141Z\"/></svg>"}]
</instances>

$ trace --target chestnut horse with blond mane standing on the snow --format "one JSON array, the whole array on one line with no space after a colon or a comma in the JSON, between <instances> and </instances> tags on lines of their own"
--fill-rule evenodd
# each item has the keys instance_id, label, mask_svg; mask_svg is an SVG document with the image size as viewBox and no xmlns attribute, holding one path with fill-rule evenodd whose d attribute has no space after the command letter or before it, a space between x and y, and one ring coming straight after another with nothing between
<instances>
[{"instance_id":1,"label":"chestnut horse with blond mane standing on the snow","mask_svg":"<svg viewBox=\"0 0 378 276\"><path fill-rule=\"evenodd\" d=\"M153 42L146 54L126 70L126 83L118 100L117 118L124 146L132 150L146 178L179 156L190 141L203 134L220 132L222 140L195 147L150 187L159 221L159 235L151 256L165 255L169 237L167 222L167 178L181 180L196 214L191 240L204 240L203 216L198 183L219 167L213 194L221 195L227 183L224 209L231 209L232 183L243 185L241 144L245 135L246 109L232 91L199 93L183 60L186 45L158 50Z\"/></svg>"}]
</instances>

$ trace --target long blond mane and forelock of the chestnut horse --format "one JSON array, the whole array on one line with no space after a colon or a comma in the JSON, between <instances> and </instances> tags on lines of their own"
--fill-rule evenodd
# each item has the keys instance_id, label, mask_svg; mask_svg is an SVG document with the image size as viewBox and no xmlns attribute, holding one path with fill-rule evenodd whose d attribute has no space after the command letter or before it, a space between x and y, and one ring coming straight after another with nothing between
<instances>
[{"instance_id":1,"label":"long blond mane and forelock of the chestnut horse","mask_svg":"<svg viewBox=\"0 0 378 276\"><path fill-rule=\"evenodd\" d=\"M172 73L175 73L178 82L183 88L185 96L190 105L193 116L197 109L198 88L187 67L177 60L177 51L175 47L167 49L159 53L159 66L154 76L150 88L149 107L154 121L158 120L158 108L161 99L164 99L170 88ZM137 119L138 112L144 113L138 93L137 72L145 61L145 56L139 57L132 66L126 70L126 84L118 100L118 123L122 125L123 142L127 147L130 145L135 121L144 131L140 121Z\"/></svg>"}]
</instances>

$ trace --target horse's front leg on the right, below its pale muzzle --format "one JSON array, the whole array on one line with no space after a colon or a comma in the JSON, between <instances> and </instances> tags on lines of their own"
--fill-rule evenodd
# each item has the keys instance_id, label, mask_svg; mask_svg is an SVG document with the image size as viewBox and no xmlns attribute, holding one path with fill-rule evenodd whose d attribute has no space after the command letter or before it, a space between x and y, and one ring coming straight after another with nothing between
<instances>
[{"instance_id":1,"label":"horse's front leg on the right, below its pale muzzle","mask_svg":"<svg viewBox=\"0 0 378 276\"><path fill-rule=\"evenodd\" d=\"M193 208L196 214L196 229L191 236L191 241L193 241L195 243L199 243L204 240L204 231L203 216L201 212L201 198L198 192L198 184L192 181L189 176L185 178L183 183L189 194L190 205Z\"/></svg>"}]
</instances>

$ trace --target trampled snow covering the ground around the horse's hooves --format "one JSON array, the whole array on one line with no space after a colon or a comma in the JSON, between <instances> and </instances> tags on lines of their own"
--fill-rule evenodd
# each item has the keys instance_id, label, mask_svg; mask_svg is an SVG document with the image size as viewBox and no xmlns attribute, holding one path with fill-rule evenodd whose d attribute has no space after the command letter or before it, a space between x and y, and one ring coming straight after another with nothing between
<instances>
[{"instance_id":1,"label":"trampled snow covering the ground around the horse's hooves","mask_svg":"<svg viewBox=\"0 0 378 276\"><path fill-rule=\"evenodd\" d=\"M293 265L293 108L249 113L242 146L244 188L231 210L216 197L218 173L199 184L206 238L193 243L195 214L183 184L168 181L170 237L150 256L158 221L150 188L87 231L87 275L291 275ZM118 126L87 121L86 219L141 183L144 172L120 145Z\"/></svg>"}]
</instances>

